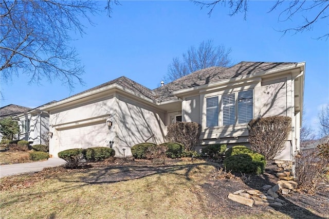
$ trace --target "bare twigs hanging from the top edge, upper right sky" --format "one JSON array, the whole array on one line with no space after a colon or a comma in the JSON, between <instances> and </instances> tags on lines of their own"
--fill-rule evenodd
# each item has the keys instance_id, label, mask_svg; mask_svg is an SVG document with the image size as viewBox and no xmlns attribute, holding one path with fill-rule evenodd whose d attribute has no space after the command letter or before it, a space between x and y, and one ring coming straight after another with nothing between
<instances>
[{"instance_id":1,"label":"bare twigs hanging from the top edge, upper right sky","mask_svg":"<svg viewBox=\"0 0 329 219\"><path fill-rule=\"evenodd\" d=\"M209 15L211 15L216 6L221 5L224 7L228 6L230 8L229 15L231 16L242 12L244 13L244 19L246 19L247 17L248 0L216 0L212 2L200 2L192 0L192 2L200 6L201 9L204 7L209 8ZM283 7L281 8L281 6ZM276 9L281 10L278 17L279 21L285 22L288 20L293 20L296 16L301 16L303 18L304 22L298 24L296 27L281 30L283 33L287 33L290 31L297 33L312 30L316 22L320 20L325 21L329 16L329 1L277 0L276 3L269 9L269 12L272 12ZM309 13L310 11L314 13ZM319 36L318 39L324 38L325 40L327 40L328 37L329 32L326 31L322 36Z\"/></svg>"}]
</instances>

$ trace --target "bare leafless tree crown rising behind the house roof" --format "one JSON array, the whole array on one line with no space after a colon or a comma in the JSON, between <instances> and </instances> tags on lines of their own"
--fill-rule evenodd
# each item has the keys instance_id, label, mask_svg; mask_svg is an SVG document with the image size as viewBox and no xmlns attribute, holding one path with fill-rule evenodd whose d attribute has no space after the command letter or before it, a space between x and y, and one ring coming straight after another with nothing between
<instances>
[{"instance_id":1,"label":"bare leafless tree crown rising behind the house roof","mask_svg":"<svg viewBox=\"0 0 329 219\"><path fill-rule=\"evenodd\" d=\"M214 46L212 40L203 41L198 48L191 46L182 54L182 60L178 57L173 59L164 81L169 83L193 71L212 66L230 66L230 53L231 49L226 49L223 45Z\"/></svg>"}]
</instances>

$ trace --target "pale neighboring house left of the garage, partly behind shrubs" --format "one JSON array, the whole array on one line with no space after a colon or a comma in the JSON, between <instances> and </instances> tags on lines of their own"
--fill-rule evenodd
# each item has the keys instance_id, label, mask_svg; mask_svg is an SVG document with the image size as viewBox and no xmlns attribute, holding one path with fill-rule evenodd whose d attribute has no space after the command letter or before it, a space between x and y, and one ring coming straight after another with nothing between
<instances>
[{"instance_id":1,"label":"pale neighboring house left of the garage, partly behind shrubs","mask_svg":"<svg viewBox=\"0 0 329 219\"><path fill-rule=\"evenodd\" d=\"M29 109L14 117L14 119L17 119L20 126L19 140L27 140L30 142L30 145L47 143L49 114L46 111L40 110L40 108L53 103L56 103L56 101L51 101L39 107Z\"/></svg>"}]
</instances>

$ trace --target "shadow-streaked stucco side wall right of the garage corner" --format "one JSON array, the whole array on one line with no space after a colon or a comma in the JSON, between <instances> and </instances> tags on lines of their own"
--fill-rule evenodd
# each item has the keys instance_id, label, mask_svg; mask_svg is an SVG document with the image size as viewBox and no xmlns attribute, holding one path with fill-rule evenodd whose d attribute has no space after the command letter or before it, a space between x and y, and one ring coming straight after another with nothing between
<instances>
[{"instance_id":1,"label":"shadow-streaked stucco side wall right of the garage corner","mask_svg":"<svg viewBox=\"0 0 329 219\"><path fill-rule=\"evenodd\" d=\"M125 156L130 156L130 147L137 143L153 142L160 144L166 141L167 127L165 113L155 108L138 103L124 96L119 96L119 147L120 155L125 149Z\"/></svg>"}]
</instances>

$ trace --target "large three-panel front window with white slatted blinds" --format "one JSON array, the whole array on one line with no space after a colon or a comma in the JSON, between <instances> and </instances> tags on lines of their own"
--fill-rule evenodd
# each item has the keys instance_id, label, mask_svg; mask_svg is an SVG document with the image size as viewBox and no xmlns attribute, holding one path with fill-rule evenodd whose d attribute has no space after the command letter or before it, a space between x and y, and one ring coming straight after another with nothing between
<instances>
[{"instance_id":1,"label":"large three-panel front window with white slatted blinds","mask_svg":"<svg viewBox=\"0 0 329 219\"><path fill-rule=\"evenodd\" d=\"M221 98L221 121L220 99ZM245 124L253 118L253 90L206 98L206 127Z\"/></svg>"}]
</instances>

